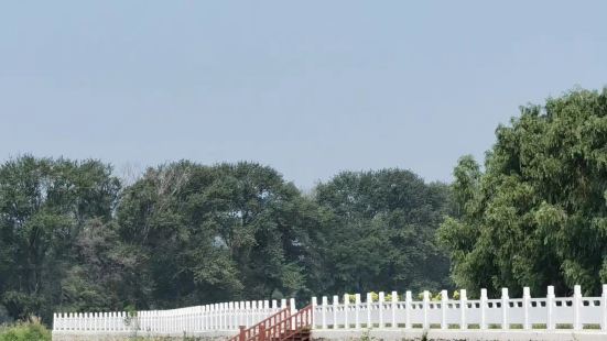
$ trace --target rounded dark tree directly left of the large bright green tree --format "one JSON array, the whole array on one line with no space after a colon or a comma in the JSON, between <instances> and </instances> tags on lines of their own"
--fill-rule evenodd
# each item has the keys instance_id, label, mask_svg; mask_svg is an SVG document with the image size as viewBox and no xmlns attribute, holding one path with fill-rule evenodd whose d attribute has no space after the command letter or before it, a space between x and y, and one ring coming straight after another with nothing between
<instances>
[{"instance_id":1,"label":"rounded dark tree directly left of the large bright green tree","mask_svg":"<svg viewBox=\"0 0 607 341\"><path fill-rule=\"evenodd\" d=\"M316 200L333 217L322 243L325 289L448 287L448 262L434 240L447 190L400 169L343 172L318 185Z\"/></svg>"}]
</instances>

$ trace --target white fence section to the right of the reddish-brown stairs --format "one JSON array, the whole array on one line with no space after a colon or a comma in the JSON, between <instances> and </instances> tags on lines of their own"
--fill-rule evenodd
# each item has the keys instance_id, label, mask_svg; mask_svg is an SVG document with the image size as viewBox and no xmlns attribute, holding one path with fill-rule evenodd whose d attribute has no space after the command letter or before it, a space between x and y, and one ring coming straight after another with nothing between
<instances>
[{"instance_id":1,"label":"white fence section to the right of the reddish-brown stairs","mask_svg":"<svg viewBox=\"0 0 607 341\"><path fill-rule=\"evenodd\" d=\"M480 299L468 299L466 290L460 290L459 299L448 299L447 292L441 293L441 300L431 300L424 292L423 300L413 300L407 292L404 300L398 293L391 293L390 301L379 293L373 301L367 294L361 301L360 294L338 296L328 302L322 297L312 298L314 306L314 329L360 329L360 328L440 328L440 329L573 329L600 328L607 331L607 285L600 297L582 297L579 286L574 287L572 297L555 297L554 287L548 287L546 297L532 298L529 288L523 289L522 298L510 298L508 289L501 298L488 299L487 290L480 292ZM600 331L597 331L600 332Z\"/></svg>"}]
</instances>

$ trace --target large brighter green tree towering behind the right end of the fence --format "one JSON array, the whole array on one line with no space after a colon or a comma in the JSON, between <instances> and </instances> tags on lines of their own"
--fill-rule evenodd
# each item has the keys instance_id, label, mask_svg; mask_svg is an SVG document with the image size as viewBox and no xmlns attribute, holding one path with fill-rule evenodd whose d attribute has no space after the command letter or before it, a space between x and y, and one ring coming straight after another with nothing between
<instances>
[{"instance_id":1,"label":"large brighter green tree towering behind the right end of the fence","mask_svg":"<svg viewBox=\"0 0 607 341\"><path fill-rule=\"evenodd\" d=\"M561 294L607 283L607 89L576 90L521 108L499 127L485 170L455 168L457 213L440 239L456 284L473 290L530 286Z\"/></svg>"}]
</instances>

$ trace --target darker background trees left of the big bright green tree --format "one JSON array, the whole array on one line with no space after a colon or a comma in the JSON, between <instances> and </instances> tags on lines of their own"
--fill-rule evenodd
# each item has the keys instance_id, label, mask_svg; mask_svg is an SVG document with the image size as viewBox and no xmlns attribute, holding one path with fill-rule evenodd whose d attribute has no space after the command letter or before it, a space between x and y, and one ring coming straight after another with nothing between
<instances>
[{"instance_id":1,"label":"darker background trees left of the big bright green tree","mask_svg":"<svg viewBox=\"0 0 607 341\"><path fill-rule=\"evenodd\" d=\"M122 188L98 161L18 157L0 166L0 318L437 288L446 191L393 169L304 196L270 167L185 161Z\"/></svg>"}]
</instances>

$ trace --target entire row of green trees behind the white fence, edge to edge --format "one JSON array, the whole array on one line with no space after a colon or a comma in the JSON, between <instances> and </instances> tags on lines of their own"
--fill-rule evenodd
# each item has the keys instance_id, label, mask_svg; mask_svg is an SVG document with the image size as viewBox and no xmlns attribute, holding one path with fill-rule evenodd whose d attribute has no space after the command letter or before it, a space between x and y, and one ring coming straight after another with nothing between
<instances>
[{"instance_id":1,"label":"entire row of green trees behind the white fence, edge to edge","mask_svg":"<svg viewBox=\"0 0 607 341\"><path fill-rule=\"evenodd\" d=\"M0 322L53 311L607 282L607 90L521 107L452 184L342 172L302 193L257 163L0 165ZM543 292L545 293L545 292Z\"/></svg>"}]
</instances>

